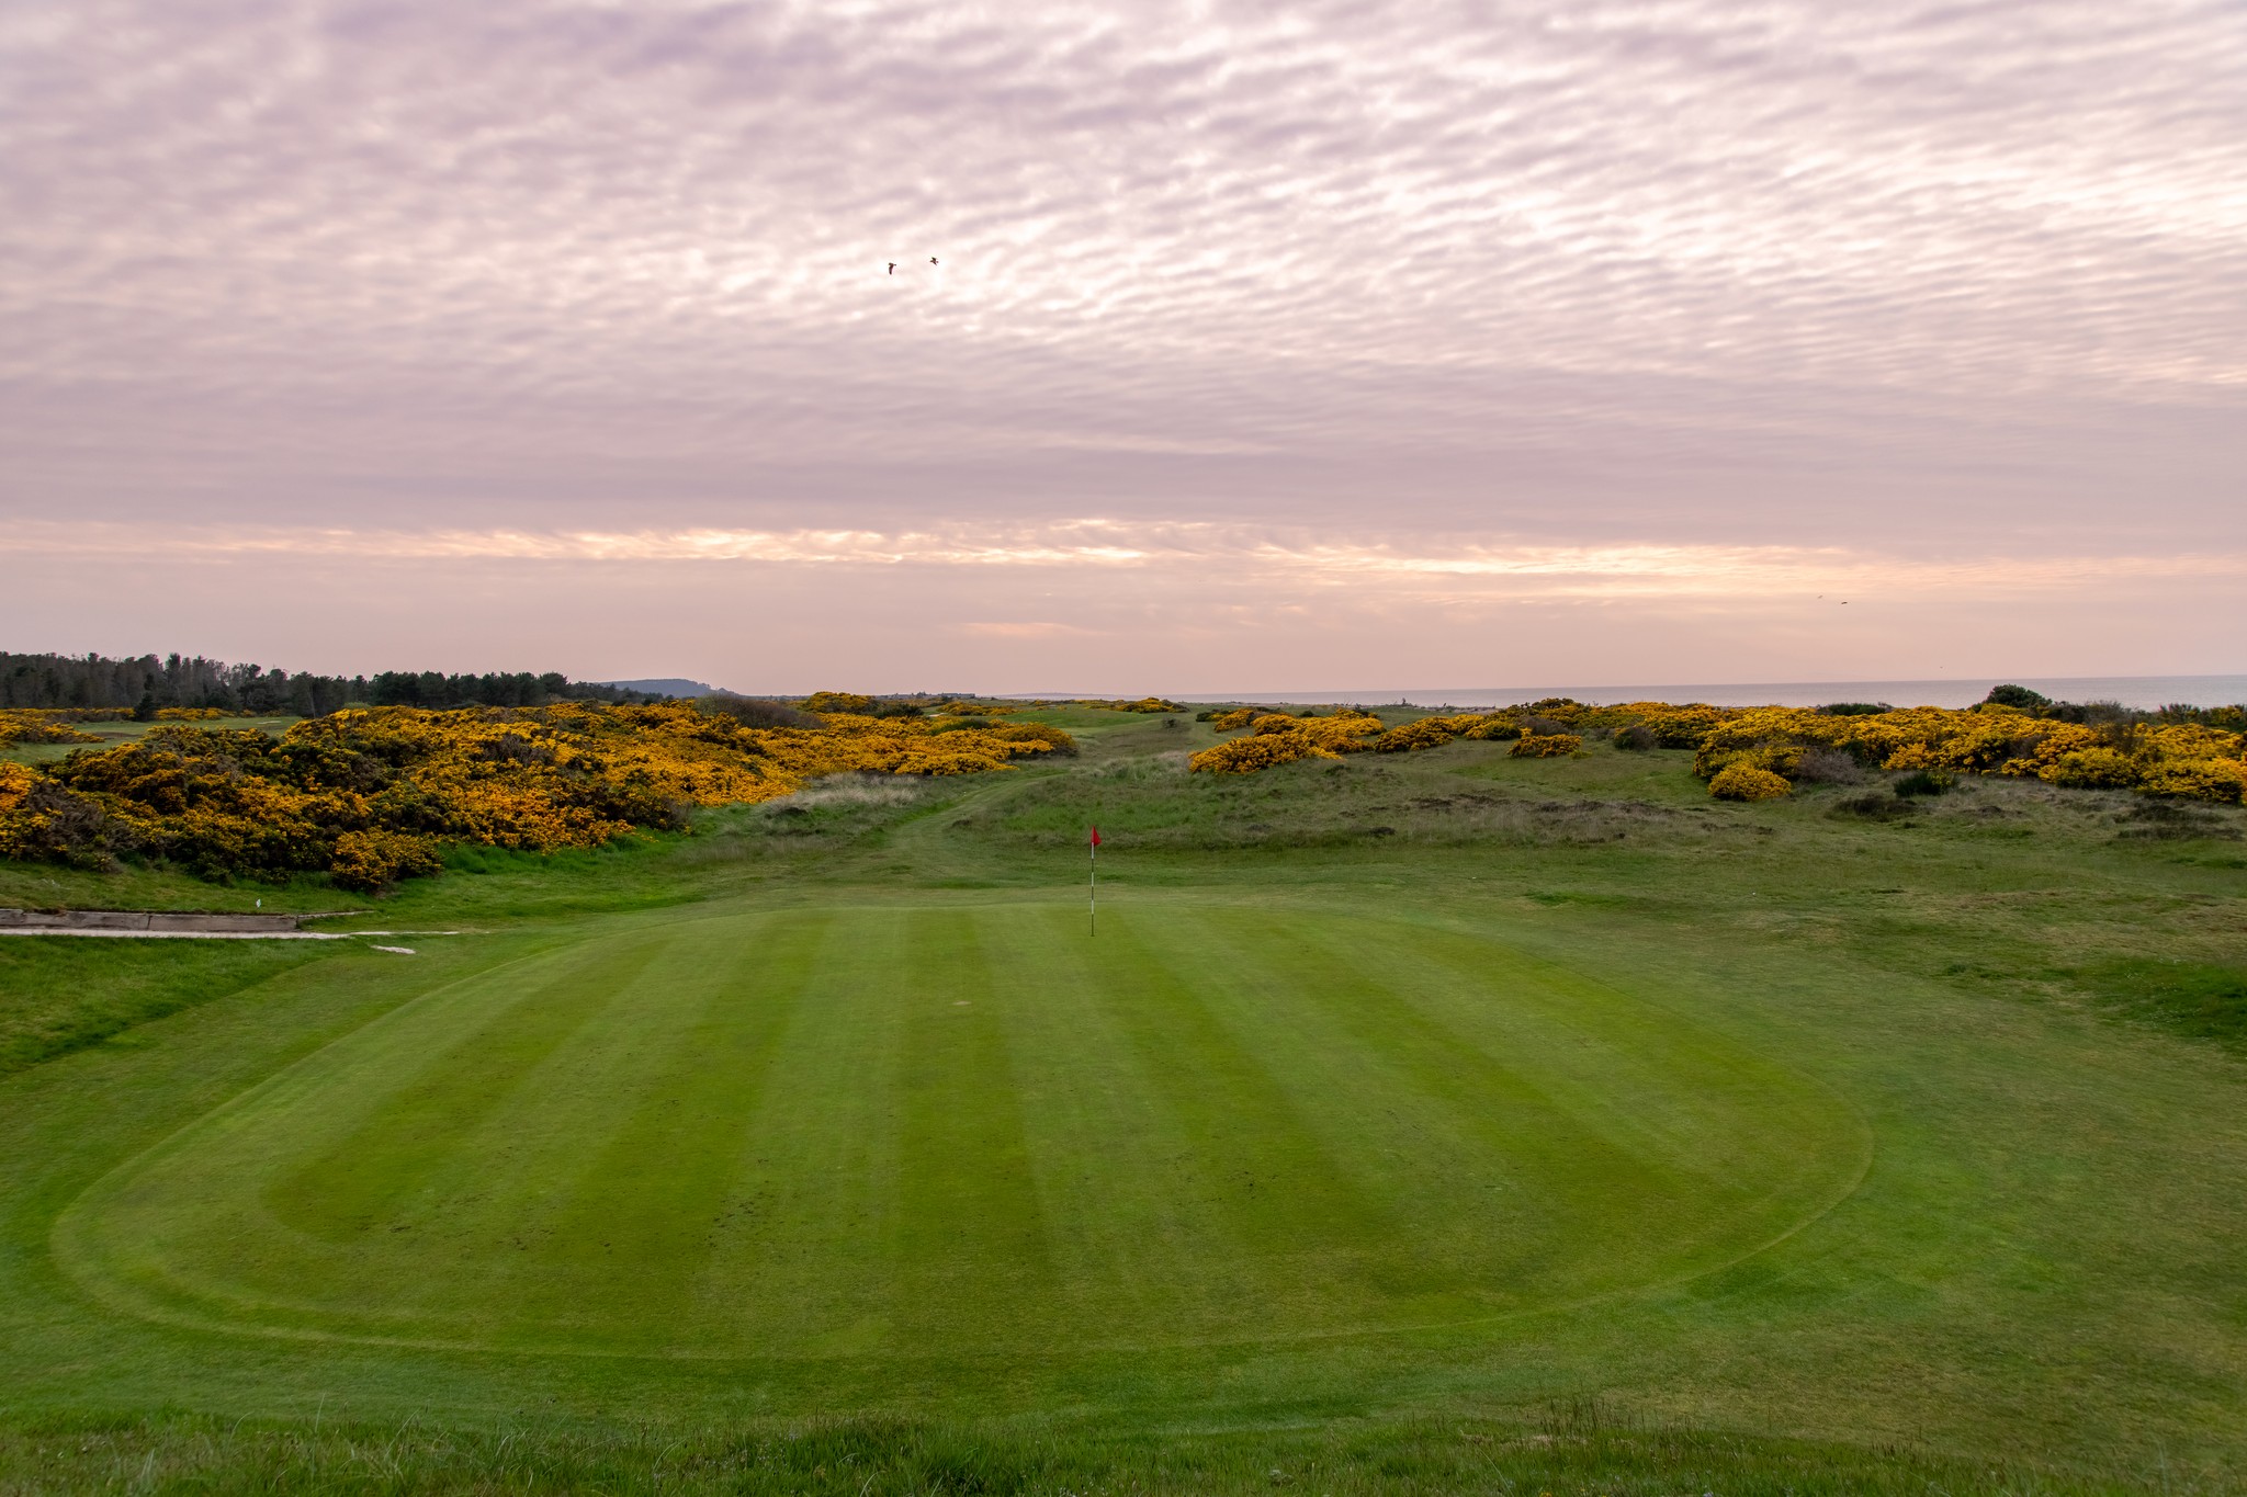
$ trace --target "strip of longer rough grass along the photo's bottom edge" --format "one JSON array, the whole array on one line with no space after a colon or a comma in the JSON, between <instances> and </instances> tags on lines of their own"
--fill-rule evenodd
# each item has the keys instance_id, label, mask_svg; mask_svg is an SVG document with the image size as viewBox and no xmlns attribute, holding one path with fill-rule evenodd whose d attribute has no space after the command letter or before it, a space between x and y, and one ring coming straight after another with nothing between
<instances>
[{"instance_id":1,"label":"strip of longer rough grass along the photo's bottom edge","mask_svg":"<svg viewBox=\"0 0 2247 1497\"><path fill-rule=\"evenodd\" d=\"M43 1421L0 1432L11 1493L1537 1493L1822 1497L1825 1493L2114 1490L1923 1452L1856 1450L1600 1421L1598 1405L1532 1425L1375 1421L1319 1430L1099 1436L915 1421L739 1430L584 1430L519 1423L243 1425L211 1418Z\"/></svg>"}]
</instances>

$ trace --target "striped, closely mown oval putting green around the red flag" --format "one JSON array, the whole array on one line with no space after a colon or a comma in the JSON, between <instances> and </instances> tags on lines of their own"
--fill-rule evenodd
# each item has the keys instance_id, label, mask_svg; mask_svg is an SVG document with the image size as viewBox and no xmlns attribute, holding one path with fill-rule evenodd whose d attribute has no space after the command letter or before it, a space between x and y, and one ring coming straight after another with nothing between
<instances>
[{"instance_id":1,"label":"striped, closely mown oval putting green around the red flag","mask_svg":"<svg viewBox=\"0 0 2247 1497\"><path fill-rule=\"evenodd\" d=\"M1065 1351L1629 1291L1863 1158L1807 1077L1454 931L766 911L413 1001L110 1174L56 1250L142 1315L279 1335Z\"/></svg>"}]
</instances>

